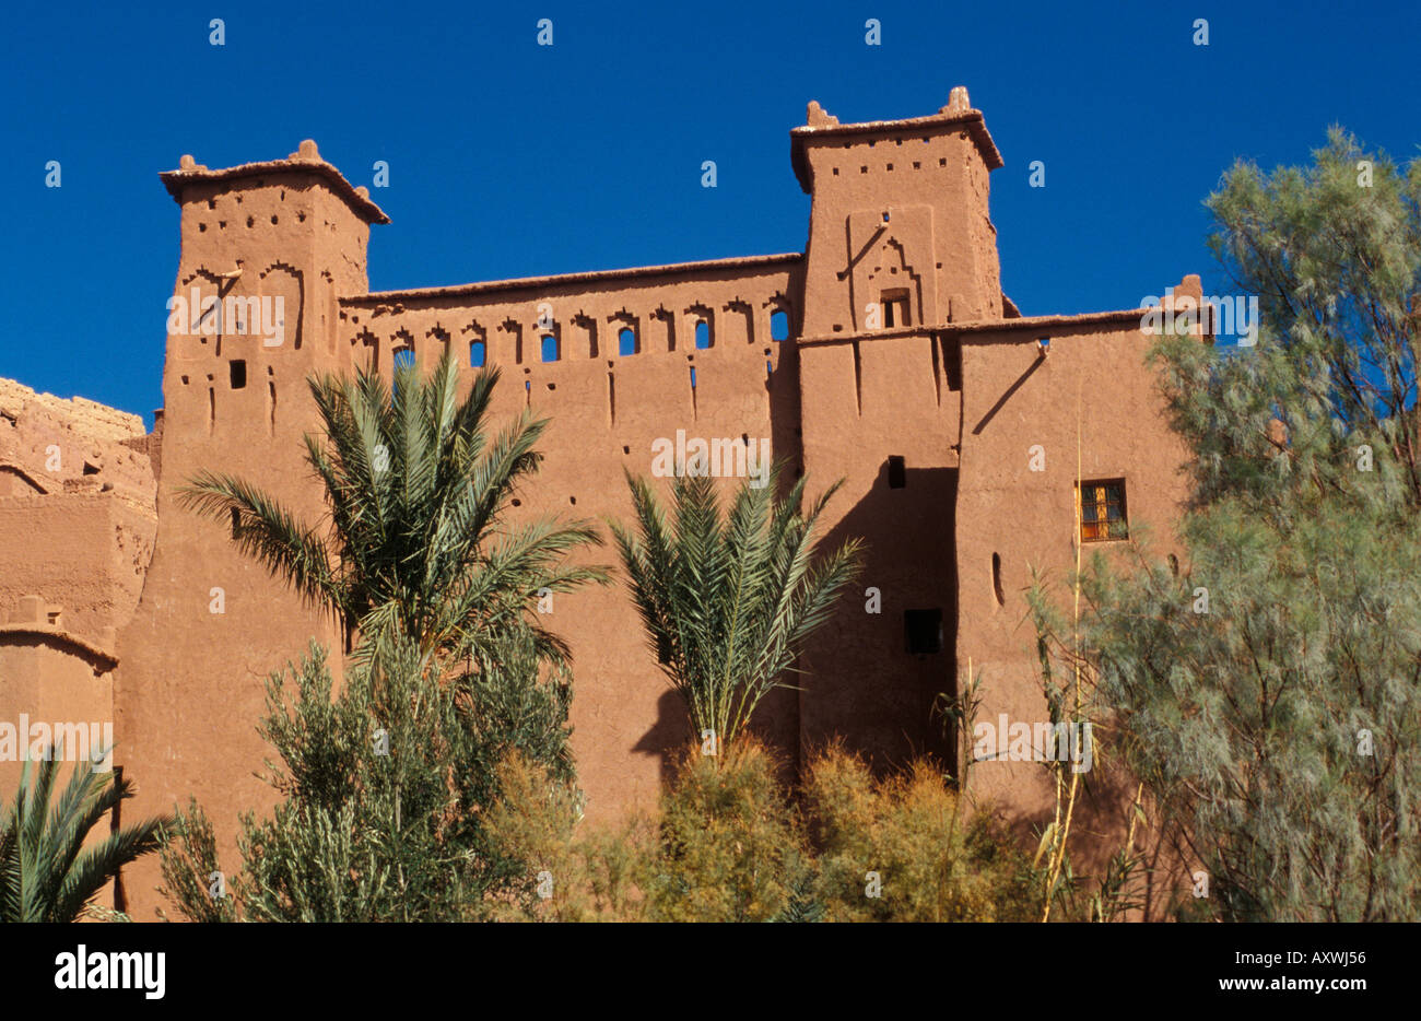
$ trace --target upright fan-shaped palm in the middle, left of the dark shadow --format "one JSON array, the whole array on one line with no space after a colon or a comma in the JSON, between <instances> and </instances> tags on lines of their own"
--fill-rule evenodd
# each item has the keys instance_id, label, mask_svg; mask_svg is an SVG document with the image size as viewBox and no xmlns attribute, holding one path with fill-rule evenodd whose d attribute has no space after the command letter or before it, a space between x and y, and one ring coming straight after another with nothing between
<instances>
[{"instance_id":1,"label":"upright fan-shaped palm in the middle, left of the dark shadow","mask_svg":"<svg viewBox=\"0 0 1421 1021\"><path fill-rule=\"evenodd\" d=\"M637 532L612 523L628 584L651 647L698 734L720 747L739 735L759 701L791 668L804 638L858 573L861 542L818 556L814 526L834 483L800 513L804 479L776 498L780 466L749 479L722 523L715 482L681 475L671 520L651 486L627 475Z\"/></svg>"}]
</instances>

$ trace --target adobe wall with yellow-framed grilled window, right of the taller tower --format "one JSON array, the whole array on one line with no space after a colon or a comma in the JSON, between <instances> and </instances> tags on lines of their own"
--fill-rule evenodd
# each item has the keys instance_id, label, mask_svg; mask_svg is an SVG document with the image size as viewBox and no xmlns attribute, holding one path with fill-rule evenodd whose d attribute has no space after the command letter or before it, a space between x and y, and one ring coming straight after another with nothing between
<instances>
[{"instance_id":1,"label":"adobe wall with yellow-framed grilled window, right of the taller tower","mask_svg":"<svg viewBox=\"0 0 1421 1021\"><path fill-rule=\"evenodd\" d=\"M1050 340L1044 356L1043 337ZM1097 552L1117 557L1128 549L1079 543L1077 479L1123 479L1131 538L1148 533L1158 556L1178 552L1174 525L1188 496L1188 451L1168 427L1158 377L1144 361L1151 341L1138 311L1015 320L961 334L956 668L965 683L971 658L980 677L979 722L996 725L1000 714L1012 722L1050 718L1026 603L1032 569L1052 584L1069 619L1077 545L1086 563ZM1005 808L1023 832L1054 805L1040 762L972 769L976 798ZM1114 833L1134 784L1100 762L1090 779L1097 799L1081 808L1077 833ZM1114 849L1111 840L1081 839L1073 855L1088 869Z\"/></svg>"}]
</instances>

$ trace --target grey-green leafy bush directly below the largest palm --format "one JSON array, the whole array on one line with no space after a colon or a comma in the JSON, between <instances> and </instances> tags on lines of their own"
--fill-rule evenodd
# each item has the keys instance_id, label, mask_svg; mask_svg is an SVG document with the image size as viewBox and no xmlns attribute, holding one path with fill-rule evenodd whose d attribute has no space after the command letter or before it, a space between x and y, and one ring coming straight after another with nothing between
<instances>
[{"instance_id":1,"label":"grey-green leafy bush directly below the largest palm","mask_svg":"<svg viewBox=\"0 0 1421 1021\"><path fill-rule=\"evenodd\" d=\"M476 661L443 681L412 641L382 643L334 698L314 646L298 670L269 678L259 729L279 755L267 781L283 801L270 819L242 820L232 892L244 917L465 920L483 914L486 894L522 880L526 865L490 843L485 813L510 755L571 781L568 680L539 675L533 636L509 641L497 664ZM179 910L203 919L216 862L195 860L185 866L173 852L165 866Z\"/></svg>"}]
</instances>

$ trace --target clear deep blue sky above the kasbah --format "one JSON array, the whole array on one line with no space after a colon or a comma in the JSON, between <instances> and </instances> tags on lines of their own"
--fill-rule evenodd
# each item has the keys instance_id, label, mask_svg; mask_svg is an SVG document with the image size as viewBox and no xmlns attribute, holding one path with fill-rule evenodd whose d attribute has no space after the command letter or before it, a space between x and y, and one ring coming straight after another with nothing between
<instances>
[{"instance_id":1,"label":"clear deep blue sky above the kasbah","mask_svg":"<svg viewBox=\"0 0 1421 1021\"><path fill-rule=\"evenodd\" d=\"M917 117L963 84L1006 159L1003 284L1036 314L1218 282L1201 199L1238 156L1304 162L1333 122L1404 161L1421 141L1415 3L78 7L0 23L0 375L149 421L178 259L156 175L183 152L227 166L314 138L357 185L385 159L371 286L453 284L803 250L806 102Z\"/></svg>"}]
</instances>

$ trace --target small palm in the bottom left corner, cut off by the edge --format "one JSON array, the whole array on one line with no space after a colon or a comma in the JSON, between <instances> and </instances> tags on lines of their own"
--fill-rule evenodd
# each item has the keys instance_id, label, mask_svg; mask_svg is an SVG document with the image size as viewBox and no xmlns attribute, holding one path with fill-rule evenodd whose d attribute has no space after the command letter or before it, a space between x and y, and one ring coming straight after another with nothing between
<instances>
[{"instance_id":1,"label":"small palm in the bottom left corner, cut off by the edge","mask_svg":"<svg viewBox=\"0 0 1421 1021\"><path fill-rule=\"evenodd\" d=\"M60 759L58 751L44 758L31 778L26 758L14 805L0 806L0 921L74 921L119 869L166 840L171 819L155 816L84 850L90 830L132 796L132 785L84 759L51 805Z\"/></svg>"}]
</instances>

